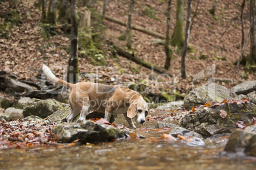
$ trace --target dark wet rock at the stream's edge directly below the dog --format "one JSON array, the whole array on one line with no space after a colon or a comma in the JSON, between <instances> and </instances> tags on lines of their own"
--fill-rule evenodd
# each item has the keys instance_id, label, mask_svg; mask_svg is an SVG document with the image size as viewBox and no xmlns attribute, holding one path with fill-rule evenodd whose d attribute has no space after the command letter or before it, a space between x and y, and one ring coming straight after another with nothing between
<instances>
[{"instance_id":1,"label":"dark wet rock at the stream's edge directly below the dog","mask_svg":"<svg viewBox=\"0 0 256 170\"><path fill-rule=\"evenodd\" d=\"M94 143L96 141L110 141L129 136L129 129L118 129L108 124L93 121L85 123L60 123L53 128L53 136L57 134L57 141L69 143L79 140L81 143Z\"/></svg>"}]
</instances>

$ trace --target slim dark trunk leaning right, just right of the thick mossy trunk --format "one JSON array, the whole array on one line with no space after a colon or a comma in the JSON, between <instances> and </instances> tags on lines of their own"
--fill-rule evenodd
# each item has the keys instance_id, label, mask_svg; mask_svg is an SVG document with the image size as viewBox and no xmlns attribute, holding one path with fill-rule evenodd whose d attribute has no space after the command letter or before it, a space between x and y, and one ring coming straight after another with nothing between
<instances>
[{"instance_id":1,"label":"slim dark trunk leaning right, just right of the thick mossy trunk","mask_svg":"<svg viewBox=\"0 0 256 170\"><path fill-rule=\"evenodd\" d=\"M186 23L186 34L185 34L185 42L182 49L181 54L181 78L186 79L186 65L185 65L185 56L187 53L188 41L189 41L189 34L190 34L190 22L191 22L191 1L188 0L188 15L187 15L187 23Z\"/></svg>"}]
</instances>

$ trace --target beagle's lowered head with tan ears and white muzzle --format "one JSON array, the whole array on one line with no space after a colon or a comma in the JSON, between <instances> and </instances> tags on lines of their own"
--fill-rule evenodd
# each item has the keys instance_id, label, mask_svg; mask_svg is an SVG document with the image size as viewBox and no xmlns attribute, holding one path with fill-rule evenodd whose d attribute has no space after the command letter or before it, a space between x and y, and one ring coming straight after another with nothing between
<instances>
[{"instance_id":1,"label":"beagle's lowered head with tan ears and white muzzle","mask_svg":"<svg viewBox=\"0 0 256 170\"><path fill-rule=\"evenodd\" d=\"M146 121L146 116L149 113L148 105L146 101L138 101L132 103L127 110L127 117L133 118L136 117L136 122L139 124L144 124Z\"/></svg>"}]
</instances>

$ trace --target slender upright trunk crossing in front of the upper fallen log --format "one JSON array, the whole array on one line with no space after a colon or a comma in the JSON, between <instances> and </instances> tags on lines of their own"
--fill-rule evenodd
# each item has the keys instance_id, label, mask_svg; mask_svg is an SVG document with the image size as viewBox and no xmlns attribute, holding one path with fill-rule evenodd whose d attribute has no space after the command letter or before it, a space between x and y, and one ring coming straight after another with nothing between
<instances>
[{"instance_id":1,"label":"slender upright trunk crossing in front of the upper fallen log","mask_svg":"<svg viewBox=\"0 0 256 170\"><path fill-rule=\"evenodd\" d=\"M132 13L133 13L134 0L130 0L130 13L128 15L128 22L126 26L127 43L128 49L132 48Z\"/></svg>"}]
</instances>

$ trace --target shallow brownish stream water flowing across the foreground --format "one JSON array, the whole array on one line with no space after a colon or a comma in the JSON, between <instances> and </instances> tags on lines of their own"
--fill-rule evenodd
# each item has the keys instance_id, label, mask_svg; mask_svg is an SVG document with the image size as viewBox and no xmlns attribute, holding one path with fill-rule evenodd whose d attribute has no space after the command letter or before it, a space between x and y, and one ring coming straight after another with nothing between
<instances>
[{"instance_id":1,"label":"shallow brownish stream water flowing across the foreground","mask_svg":"<svg viewBox=\"0 0 256 170\"><path fill-rule=\"evenodd\" d=\"M118 116L116 123L125 121ZM204 147L188 147L161 140L167 129L153 129L156 123L146 121L136 129L145 139L0 150L0 169L255 169L255 157L220 156L225 136L204 140Z\"/></svg>"}]
</instances>

